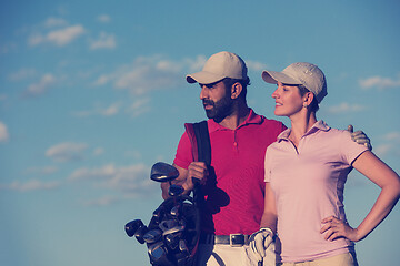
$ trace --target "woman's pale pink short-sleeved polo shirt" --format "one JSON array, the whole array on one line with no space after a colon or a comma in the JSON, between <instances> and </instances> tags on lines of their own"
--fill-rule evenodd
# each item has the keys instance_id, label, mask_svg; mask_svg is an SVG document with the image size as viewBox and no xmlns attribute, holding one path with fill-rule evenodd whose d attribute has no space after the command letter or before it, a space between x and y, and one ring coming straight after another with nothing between
<instances>
[{"instance_id":1,"label":"woman's pale pink short-sleeved polo shirt","mask_svg":"<svg viewBox=\"0 0 400 266\"><path fill-rule=\"evenodd\" d=\"M300 140L289 141L290 129L267 149L266 182L274 192L282 262L324 258L349 252L353 243L326 241L321 221L336 216L346 221L343 188L352 162L368 149L351 140L347 131L318 121Z\"/></svg>"}]
</instances>

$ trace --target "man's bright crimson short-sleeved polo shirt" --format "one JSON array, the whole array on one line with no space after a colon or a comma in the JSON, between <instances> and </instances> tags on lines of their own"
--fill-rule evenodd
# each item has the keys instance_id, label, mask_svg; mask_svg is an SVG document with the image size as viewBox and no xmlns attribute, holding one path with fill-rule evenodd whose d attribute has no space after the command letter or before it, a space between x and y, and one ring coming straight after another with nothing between
<instances>
[{"instance_id":1,"label":"man's bright crimson short-sleeved polo shirt","mask_svg":"<svg viewBox=\"0 0 400 266\"><path fill-rule=\"evenodd\" d=\"M286 130L278 121L252 110L236 130L208 120L211 142L211 174L203 186L206 208L201 225L206 233L250 235L260 227L263 211L266 149ZM187 133L177 150L174 164L188 168L193 161Z\"/></svg>"}]
</instances>

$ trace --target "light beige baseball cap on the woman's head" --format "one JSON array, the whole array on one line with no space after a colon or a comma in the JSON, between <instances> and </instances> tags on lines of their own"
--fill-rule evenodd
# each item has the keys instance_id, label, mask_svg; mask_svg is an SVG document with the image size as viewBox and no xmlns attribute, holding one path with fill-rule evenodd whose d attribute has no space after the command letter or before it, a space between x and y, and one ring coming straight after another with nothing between
<instances>
[{"instance_id":1,"label":"light beige baseball cap on the woman's head","mask_svg":"<svg viewBox=\"0 0 400 266\"><path fill-rule=\"evenodd\" d=\"M303 85L316 95L318 103L328 94L324 74L312 63L292 63L282 72L264 70L262 79L272 84L279 81L289 85Z\"/></svg>"}]
</instances>

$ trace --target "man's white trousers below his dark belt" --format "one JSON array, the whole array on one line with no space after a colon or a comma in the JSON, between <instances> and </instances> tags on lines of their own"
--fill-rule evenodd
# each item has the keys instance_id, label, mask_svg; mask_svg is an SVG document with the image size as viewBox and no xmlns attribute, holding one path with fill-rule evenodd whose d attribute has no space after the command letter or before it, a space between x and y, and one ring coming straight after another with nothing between
<instances>
[{"instance_id":1,"label":"man's white trousers below his dark belt","mask_svg":"<svg viewBox=\"0 0 400 266\"><path fill-rule=\"evenodd\" d=\"M274 245L271 244L266 253L263 263L258 264L251 256L250 246L200 244L197 266L276 266Z\"/></svg>"}]
</instances>

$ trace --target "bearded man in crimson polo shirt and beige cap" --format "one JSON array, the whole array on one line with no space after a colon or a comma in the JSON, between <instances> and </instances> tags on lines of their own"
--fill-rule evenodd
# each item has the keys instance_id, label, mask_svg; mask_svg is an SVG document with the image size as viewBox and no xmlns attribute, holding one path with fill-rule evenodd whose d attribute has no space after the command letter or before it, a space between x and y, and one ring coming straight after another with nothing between
<instances>
[{"instance_id":1,"label":"bearded man in crimson polo shirt and beige cap","mask_svg":"<svg viewBox=\"0 0 400 266\"><path fill-rule=\"evenodd\" d=\"M173 165L176 184L189 193L191 177L199 178L204 194L198 265L258 265L249 237L260 228L264 195L264 153L287 127L258 115L246 101L250 79L243 60L219 52L209 58L202 71L187 75L199 83L211 142L211 165L193 162L192 147L183 133ZM169 184L161 184L163 198ZM258 237L267 237L260 234ZM268 265L274 265L273 256ZM266 260L266 258L264 258ZM264 262L264 265L267 263Z\"/></svg>"}]
</instances>

